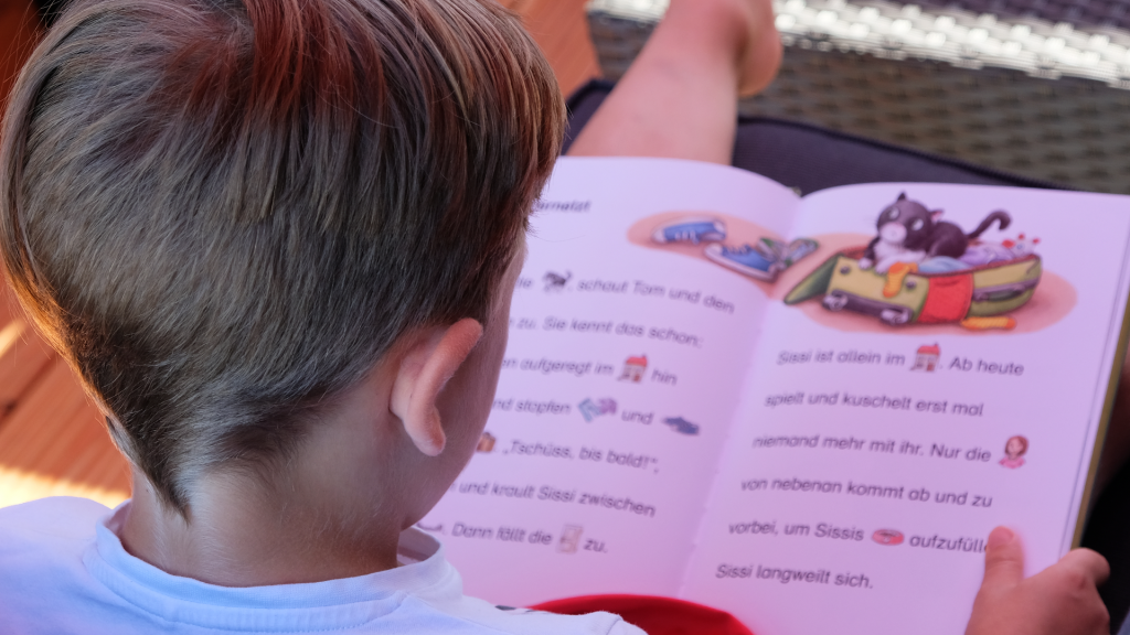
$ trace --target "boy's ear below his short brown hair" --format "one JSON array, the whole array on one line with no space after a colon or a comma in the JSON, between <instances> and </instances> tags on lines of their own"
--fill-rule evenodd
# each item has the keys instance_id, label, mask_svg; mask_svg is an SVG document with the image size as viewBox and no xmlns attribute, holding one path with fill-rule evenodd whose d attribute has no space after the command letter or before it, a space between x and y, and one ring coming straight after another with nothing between
<instances>
[{"instance_id":1,"label":"boy's ear below his short brown hair","mask_svg":"<svg viewBox=\"0 0 1130 635\"><path fill-rule=\"evenodd\" d=\"M464 318L420 337L400 362L389 410L400 418L416 447L428 456L438 455L446 443L436 408L440 392L481 337L483 325Z\"/></svg>"}]
</instances>

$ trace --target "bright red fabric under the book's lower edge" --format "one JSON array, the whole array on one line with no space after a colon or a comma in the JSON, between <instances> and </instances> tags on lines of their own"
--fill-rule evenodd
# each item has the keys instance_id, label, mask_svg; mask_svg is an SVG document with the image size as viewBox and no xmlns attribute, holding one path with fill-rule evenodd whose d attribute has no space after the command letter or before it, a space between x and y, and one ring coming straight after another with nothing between
<instances>
[{"instance_id":1,"label":"bright red fabric under the book's lower edge","mask_svg":"<svg viewBox=\"0 0 1130 635\"><path fill-rule=\"evenodd\" d=\"M608 611L643 628L647 635L754 635L725 611L655 595L580 595L530 608L562 615Z\"/></svg>"}]
</instances>

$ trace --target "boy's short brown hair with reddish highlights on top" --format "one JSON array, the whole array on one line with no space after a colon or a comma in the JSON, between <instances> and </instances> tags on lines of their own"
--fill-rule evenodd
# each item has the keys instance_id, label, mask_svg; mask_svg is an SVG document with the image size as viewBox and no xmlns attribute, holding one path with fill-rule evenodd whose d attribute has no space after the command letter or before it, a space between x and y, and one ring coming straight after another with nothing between
<instances>
[{"instance_id":1,"label":"boy's short brown hair with reddish highlights on top","mask_svg":"<svg viewBox=\"0 0 1130 635\"><path fill-rule=\"evenodd\" d=\"M80 1L6 116L0 250L183 513L403 333L486 321L563 127L489 1Z\"/></svg>"}]
</instances>

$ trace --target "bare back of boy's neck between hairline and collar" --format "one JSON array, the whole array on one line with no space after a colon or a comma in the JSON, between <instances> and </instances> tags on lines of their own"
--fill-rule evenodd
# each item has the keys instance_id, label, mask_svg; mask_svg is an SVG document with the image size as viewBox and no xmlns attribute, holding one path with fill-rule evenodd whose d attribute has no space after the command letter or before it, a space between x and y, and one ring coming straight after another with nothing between
<instances>
[{"instance_id":1,"label":"bare back of boy's neck between hairline and collar","mask_svg":"<svg viewBox=\"0 0 1130 635\"><path fill-rule=\"evenodd\" d=\"M418 467L398 459L412 455L406 451L411 441L389 414L390 383L379 366L337 398L285 470L200 478L184 515L134 469L122 546L166 573L220 586L322 582L395 567L400 532L427 507L420 512L406 498Z\"/></svg>"}]
</instances>

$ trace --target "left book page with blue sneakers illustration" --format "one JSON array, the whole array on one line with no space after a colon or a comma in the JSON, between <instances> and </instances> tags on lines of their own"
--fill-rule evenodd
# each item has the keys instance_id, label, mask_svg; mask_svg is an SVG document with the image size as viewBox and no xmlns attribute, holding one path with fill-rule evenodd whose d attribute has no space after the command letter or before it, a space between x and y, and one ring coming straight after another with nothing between
<instances>
[{"instance_id":1,"label":"left book page with blue sneakers illustration","mask_svg":"<svg viewBox=\"0 0 1130 635\"><path fill-rule=\"evenodd\" d=\"M772 287L704 251L783 235L798 203L733 168L558 163L480 451L419 523L468 593L676 592Z\"/></svg>"}]
</instances>

